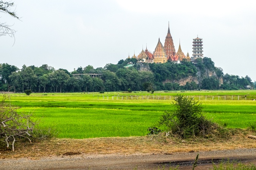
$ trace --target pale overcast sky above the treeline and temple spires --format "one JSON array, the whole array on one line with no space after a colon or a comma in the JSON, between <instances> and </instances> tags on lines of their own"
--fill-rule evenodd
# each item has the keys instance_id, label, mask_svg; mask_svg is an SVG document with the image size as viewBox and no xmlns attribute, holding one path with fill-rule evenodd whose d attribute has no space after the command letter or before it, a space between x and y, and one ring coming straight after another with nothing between
<instances>
[{"instance_id":1,"label":"pale overcast sky above the treeline and temple spires","mask_svg":"<svg viewBox=\"0 0 256 170\"><path fill-rule=\"evenodd\" d=\"M8 0L9 2L9 0ZM192 56L192 41L203 39L204 57L224 74L256 80L256 1L253 0L16 0L20 20L3 12L0 22L16 30L1 36L0 63L47 64L73 71L104 67L146 46L154 52L168 31L175 49Z\"/></svg>"}]
</instances>

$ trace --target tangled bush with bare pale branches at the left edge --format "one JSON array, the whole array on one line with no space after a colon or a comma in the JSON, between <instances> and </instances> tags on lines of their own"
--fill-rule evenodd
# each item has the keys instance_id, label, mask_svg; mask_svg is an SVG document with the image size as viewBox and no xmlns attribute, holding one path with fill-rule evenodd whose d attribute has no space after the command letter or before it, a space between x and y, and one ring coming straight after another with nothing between
<instances>
[{"instance_id":1,"label":"tangled bush with bare pale branches at the left edge","mask_svg":"<svg viewBox=\"0 0 256 170\"><path fill-rule=\"evenodd\" d=\"M37 128L38 122L31 119L31 114L17 113L18 107L5 102L3 96L0 102L0 146L9 148L16 141L29 141L47 139L52 136L50 130Z\"/></svg>"}]
</instances>

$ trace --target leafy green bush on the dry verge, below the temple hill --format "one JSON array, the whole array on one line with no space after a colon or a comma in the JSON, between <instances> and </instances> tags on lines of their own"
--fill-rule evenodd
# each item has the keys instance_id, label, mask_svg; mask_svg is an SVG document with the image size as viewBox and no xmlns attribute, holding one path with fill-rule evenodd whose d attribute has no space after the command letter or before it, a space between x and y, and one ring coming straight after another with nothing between
<instances>
[{"instance_id":1,"label":"leafy green bush on the dry verge, below the temple hill","mask_svg":"<svg viewBox=\"0 0 256 170\"><path fill-rule=\"evenodd\" d=\"M203 106L190 96L177 94L174 96L173 111L165 111L160 117L159 125L165 126L171 133L182 138L202 136L225 136L228 131L220 125L207 120L203 116Z\"/></svg>"}]
</instances>

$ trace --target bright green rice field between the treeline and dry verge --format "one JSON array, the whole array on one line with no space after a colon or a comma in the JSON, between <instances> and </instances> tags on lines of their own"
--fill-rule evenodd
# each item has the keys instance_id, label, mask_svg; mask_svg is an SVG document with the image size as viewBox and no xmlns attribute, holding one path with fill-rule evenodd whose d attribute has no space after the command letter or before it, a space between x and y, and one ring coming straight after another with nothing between
<instances>
[{"instance_id":1,"label":"bright green rice field between the treeline and dry verge","mask_svg":"<svg viewBox=\"0 0 256 170\"><path fill-rule=\"evenodd\" d=\"M52 127L58 138L144 136L165 110L172 110L173 96L186 94L202 102L204 115L230 128L247 128L256 122L256 90L172 91L138 93L16 93L12 104L33 112L41 127Z\"/></svg>"}]
</instances>

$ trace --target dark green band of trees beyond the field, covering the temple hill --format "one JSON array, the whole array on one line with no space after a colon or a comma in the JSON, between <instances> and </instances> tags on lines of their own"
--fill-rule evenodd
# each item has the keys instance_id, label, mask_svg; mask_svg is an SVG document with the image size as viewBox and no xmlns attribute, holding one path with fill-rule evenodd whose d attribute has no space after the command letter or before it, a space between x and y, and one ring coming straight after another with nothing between
<instances>
[{"instance_id":1,"label":"dark green band of trees beyond the field, covering the temple hill","mask_svg":"<svg viewBox=\"0 0 256 170\"><path fill-rule=\"evenodd\" d=\"M124 66L133 62L129 68ZM238 90L251 85L250 77L225 74L214 66L210 58L197 59L197 64L183 60L181 64L144 63L143 69L132 59L120 60L118 64L107 64L94 69L88 65L79 67L71 73L66 69L55 70L44 64L40 67L25 66L21 69L8 63L0 64L0 90L12 92L93 92L93 91L152 91L152 90ZM207 75L215 73L213 76ZM73 74L101 73L100 77ZM189 76L198 77L199 82L179 85L178 80ZM220 80L223 79L223 84Z\"/></svg>"}]
</instances>

